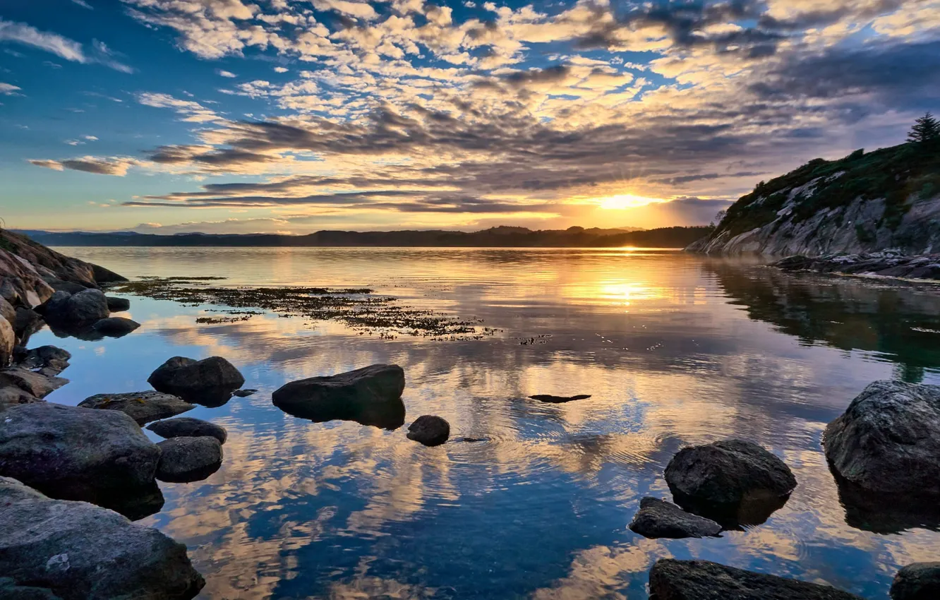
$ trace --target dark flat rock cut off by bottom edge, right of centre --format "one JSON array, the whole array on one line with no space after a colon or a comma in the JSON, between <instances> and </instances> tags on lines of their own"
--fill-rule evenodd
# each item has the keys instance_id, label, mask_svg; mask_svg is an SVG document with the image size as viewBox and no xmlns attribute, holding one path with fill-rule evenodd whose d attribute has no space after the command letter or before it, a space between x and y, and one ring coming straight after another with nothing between
<instances>
[{"instance_id":1,"label":"dark flat rock cut off by bottom edge, right of centre","mask_svg":"<svg viewBox=\"0 0 940 600\"><path fill-rule=\"evenodd\" d=\"M662 559L650 569L655 600L862 600L836 588L710 561Z\"/></svg>"}]
</instances>

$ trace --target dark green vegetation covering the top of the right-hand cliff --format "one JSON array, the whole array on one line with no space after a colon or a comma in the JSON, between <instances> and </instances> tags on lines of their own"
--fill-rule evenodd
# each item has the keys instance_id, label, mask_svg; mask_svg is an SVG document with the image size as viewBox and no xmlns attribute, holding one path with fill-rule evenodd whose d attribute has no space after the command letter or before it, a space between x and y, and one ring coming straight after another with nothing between
<instances>
[{"instance_id":1,"label":"dark green vegetation covering the top of the right-hand cliff","mask_svg":"<svg viewBox=\"0 0 940 600\"><path fill-rule=\"evenodd\" d=\"M791 190L813 180L819 180L815 189L797 198L794 222L823 209L847 206L856 198L885 198L885 213L875 225L896 229L912 199L940 194L940 148L901 144L868 154L855 150L836 161L811 160L786 175L760 182L731 205L715 234L738 235L772 223Z\"/></svg>"}]
</instances>

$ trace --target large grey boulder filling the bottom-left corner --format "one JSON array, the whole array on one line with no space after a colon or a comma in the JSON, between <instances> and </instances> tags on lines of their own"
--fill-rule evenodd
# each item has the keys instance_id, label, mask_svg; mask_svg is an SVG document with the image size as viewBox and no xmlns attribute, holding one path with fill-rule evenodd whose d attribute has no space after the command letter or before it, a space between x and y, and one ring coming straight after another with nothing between
<instances>
[{"instance_id":1,"label":"large grey boulder filling the bottom-left corner","mask_svg":"<svg viewBox=\"0 0 940 600\"><path fill-rule=\"evenodd\" d=\"M23 598L188 600L205 585L186 546L160 531L8 478L0 479L0 573L49 591Z\"/></svg>"}]
</instances>

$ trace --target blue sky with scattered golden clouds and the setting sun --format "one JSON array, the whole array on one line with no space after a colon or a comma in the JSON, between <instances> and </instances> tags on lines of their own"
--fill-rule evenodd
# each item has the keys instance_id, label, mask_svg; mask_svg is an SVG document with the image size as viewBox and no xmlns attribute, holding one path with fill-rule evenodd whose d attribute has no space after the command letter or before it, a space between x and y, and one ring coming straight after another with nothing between
<instances>
[{"instance_id":1,"label":"blue sky with scattered golden clouds and the setting sun","mask_svg":"<svg viewBox=\"0 0 940 600\"><path fill-rule=\"evenodd\" d=\"M940 0L0 0L0 216L707 224L940 112Z\"/></svg>"}]
</instances>

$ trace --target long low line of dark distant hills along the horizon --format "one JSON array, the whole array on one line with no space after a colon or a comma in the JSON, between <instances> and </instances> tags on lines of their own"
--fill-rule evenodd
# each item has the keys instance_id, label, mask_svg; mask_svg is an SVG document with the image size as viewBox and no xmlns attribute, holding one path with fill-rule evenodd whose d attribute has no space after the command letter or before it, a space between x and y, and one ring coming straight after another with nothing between
<instances>
[{"instance_id":1,"label":"long low line of dark distant hills along the horizon","mask_svg":"<svg viewBox=\"0 0 940 600\"><path fill-rule=\"evenodd\" d=\"M482 231L317 231L309 235L268 233L155 235L127 231L38 231L28 235L44 245L133 246L466 246L466 247L657 247L682 248L708 235L707 227L664 229L569 229L532 230L496 227Z\"/></svg>"}]
</instances>

